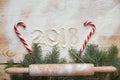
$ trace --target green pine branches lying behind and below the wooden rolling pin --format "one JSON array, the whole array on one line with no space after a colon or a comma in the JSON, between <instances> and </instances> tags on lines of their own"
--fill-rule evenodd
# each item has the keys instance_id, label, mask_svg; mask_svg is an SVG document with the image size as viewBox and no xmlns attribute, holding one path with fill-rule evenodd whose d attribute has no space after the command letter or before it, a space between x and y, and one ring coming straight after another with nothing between
<instances>
[{"instance_id":1,"label":"green pine branches lying behind and below the wooden rolling pin","mask_svg":"<svg viewBox=\"0 0 120 80\"><path fill-rule=\"evenodd\" d=\"M53 46L52 51L43 57L42 49L38 44L33 44L33 54L26 54L21 63L14 63L13 60L8 61L8 67L28 67L30 64L61 64L67 63L65 58L60 59L60 50L57 46ZM38 76L31 77L29 74L12 74L11 80L120 80L120 58L118 56L118 48L111 46L107 50L102 50L98 45L90 44L85 48L84 53L74 49L69 49L71 62L69 63L92 63L95 66L115 66L117 71L114 73L95 73L93 76Z\"/></svg>"}]
</instances>

